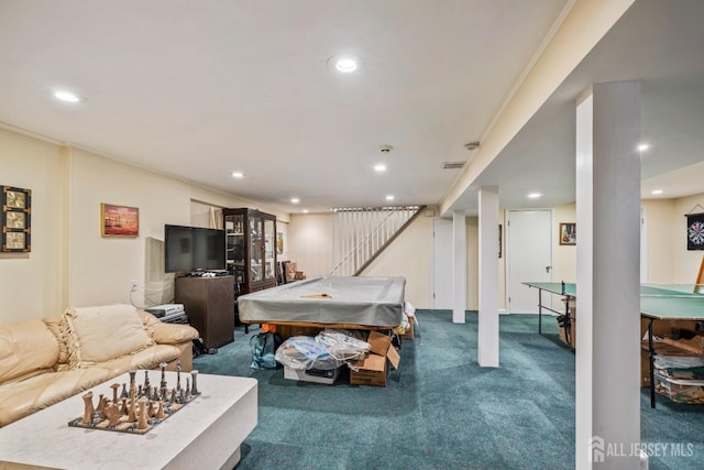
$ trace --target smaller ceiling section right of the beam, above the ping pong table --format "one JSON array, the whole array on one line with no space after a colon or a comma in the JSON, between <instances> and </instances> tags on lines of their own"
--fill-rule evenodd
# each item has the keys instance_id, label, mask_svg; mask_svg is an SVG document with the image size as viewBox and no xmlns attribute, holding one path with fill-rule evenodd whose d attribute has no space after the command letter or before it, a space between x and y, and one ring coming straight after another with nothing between
<instances>
[{"instance_id":1,"label":"smaller ceiling section right of the beam, above the ping pong table","mask_svg":"<svg viewBox=\"0 0 704 470\"><path fill-rule=\"evenodd\" d=\"M701 0L637 0L453 209L475 209L482 185L499 185L506 208L574 201L576 98L615 80L641 80L641 197L704 193L703 20Z\"/></svg>"}]
</instances>

